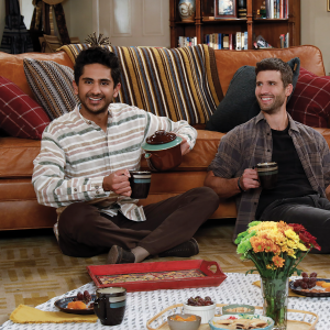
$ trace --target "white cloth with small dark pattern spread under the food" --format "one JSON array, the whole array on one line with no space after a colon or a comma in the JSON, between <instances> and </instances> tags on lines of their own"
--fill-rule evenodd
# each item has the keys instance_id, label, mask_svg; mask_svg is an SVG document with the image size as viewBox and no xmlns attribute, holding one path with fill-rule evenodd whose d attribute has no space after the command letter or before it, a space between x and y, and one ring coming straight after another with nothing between
<instances>
[{"instance_id":1,"label":"white cloth with small dark pattern spread under the food","mask_svg":"<svg viewBox=\"0 0 330 330\"><path fill-rule=\"evenodd\" d=\"M146 322L156 314L166 307L175 304L185 302L189 297L210 296L217 304L249 304L253 306L262 306L262 296L258 287L252 283L260 279L258 275L244 275L239 273L228 273L226 280L218 287L201 287L187 289L170 289L155 292L136 292L128 294L127 310L124 320L120 326L111 327L111 330L143 330ZM75 296L78 292L96 290L95 284L88 283L76 290L66 293L63 296L55 297L36 308L41 310L57 311L54 301L64 297ZM316 330L330 329L330 297L289 297L289 309L308 310L319 316L319 322ZM261 312L261 310L256 310ZM217 310L217 314L220 311ZM301 314L289 312L288 319L302 321ZM165 317L164 317L165 320ZM308 321L308 318L305 319ZM152 324L157 328L157 323ZM102 326L98 320L97 323L43 323L43 324L18 324L7 321L0 327L0 330L99 330L110 329Z\"/></svg>"}]
</instances>

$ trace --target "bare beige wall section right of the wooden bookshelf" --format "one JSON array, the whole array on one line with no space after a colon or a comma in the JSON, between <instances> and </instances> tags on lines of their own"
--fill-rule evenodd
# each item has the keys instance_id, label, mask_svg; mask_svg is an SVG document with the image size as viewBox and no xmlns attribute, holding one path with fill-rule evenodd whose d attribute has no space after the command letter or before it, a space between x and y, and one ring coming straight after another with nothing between
<instances>
[{"instance_id":1,"label":"bare beige wall section right of the wooden bookshelf","mask_svg":"<svg viewBox=\"0 0 330 330\"><path fill-rule=\"evenodd\" d=\"M327 0L301 0L301 44L319 47L323 55L326 74L330 76L330 11Z\"/></svg>"}]
</instances>

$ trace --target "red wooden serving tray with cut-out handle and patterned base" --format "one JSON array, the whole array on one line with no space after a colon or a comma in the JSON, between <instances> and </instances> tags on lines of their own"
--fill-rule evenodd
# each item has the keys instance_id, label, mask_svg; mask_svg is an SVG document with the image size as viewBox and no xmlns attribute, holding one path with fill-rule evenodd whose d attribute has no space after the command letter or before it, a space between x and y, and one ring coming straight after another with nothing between
<instances>
[{"instance_id":1,"label":"red wooden serving tray with cut-out handle and patterned base","mask_svg":"<svg viewBox=\"0 0 330 330\"><path fill-rule=\"evenodd\" d=\"M216 271L210 270L216 266ZM217 262L186 260L87 266L97 287L123 286L130 292L218 286L227 277Z\"/></svg>"}]
</instances>

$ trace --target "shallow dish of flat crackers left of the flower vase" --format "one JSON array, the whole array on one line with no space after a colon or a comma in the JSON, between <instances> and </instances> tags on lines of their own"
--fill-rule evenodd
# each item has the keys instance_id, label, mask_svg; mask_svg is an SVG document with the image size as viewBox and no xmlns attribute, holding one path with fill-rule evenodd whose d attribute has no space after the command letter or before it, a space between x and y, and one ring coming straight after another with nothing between
<instances>
[{"instance_id":1,"label":"shallow dish of flat crackers left of the flower vase","mask_svg":"<svg viewBox=\"0 0 330 330\"><path fill-rule=\"evenodd\" d=\"M261 329L272 330L274 327L273 319L262 315L222 315L215 317L209 321L211 330L227 329Z\"/></svg>"}]
</instances>

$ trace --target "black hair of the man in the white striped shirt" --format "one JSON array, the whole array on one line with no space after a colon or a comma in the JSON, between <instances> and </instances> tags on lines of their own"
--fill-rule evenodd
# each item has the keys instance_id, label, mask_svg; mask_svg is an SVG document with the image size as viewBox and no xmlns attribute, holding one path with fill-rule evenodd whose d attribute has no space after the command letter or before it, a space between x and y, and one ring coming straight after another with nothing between
<instances>
[{"instance_id":1,"label":"black hair of the man in the white striped shirt","mask_svg":"<svg viewBox=\"0 0 330 330\"><path fill-rule=\"evenodd\" d=\"M111 69L111 77L114 86L119 82L120 63L114 53L103 47L90 47L84 50L76 58L75 81L78 85L84 73L84 66L88 64L101 64Z\"/></svg>"}]
</instances>

